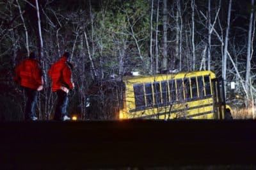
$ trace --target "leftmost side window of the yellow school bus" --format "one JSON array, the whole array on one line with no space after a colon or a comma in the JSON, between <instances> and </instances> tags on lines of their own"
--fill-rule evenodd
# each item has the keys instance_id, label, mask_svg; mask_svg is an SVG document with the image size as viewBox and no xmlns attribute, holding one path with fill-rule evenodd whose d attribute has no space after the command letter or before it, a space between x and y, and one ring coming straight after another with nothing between
<instances>
[{"instance_id":1,"label":"leftmost side window of the yellow school bus","mask_svg":"<svg viewBox=\"0 0 256 170\"><path fill-rule=\"evenodd\" d=\"M133 89L136 108L145 107L143 84L134 84Z\"/></svg>"}]
</instances>

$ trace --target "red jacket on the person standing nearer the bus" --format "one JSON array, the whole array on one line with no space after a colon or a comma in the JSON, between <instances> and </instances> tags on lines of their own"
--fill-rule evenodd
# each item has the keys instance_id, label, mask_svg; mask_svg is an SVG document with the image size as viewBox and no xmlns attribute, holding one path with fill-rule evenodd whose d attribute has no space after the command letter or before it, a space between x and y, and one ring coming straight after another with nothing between
<instances>
[{"instance_id":1,"label":"red jacket on the person standing nearer the bus","mask_svg":"<svg viewBox=\"0 0 256 170\"><path fill-rule=\"evenodd\" d=\"M61 86L73 89L72 71L66 63L67 57L63 56L50 68L48 74L52 79L52 91L57 91Z\"/></svg>"}]
</instances>

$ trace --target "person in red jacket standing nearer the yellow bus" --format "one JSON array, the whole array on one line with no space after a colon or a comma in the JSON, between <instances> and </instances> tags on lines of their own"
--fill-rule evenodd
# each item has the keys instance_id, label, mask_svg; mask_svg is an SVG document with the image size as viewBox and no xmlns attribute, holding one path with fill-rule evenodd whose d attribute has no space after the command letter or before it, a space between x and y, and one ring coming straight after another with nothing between
<instances>
[{"instance_id":1,"label":"person in red jacket standing nearer the yellow bus","mask_svg":"<svg viewBox=\"0 0 256 170\"><path fill-rule=\"evenodd\" d=\"M57 93L58 102L54 113L54 120L70 120L67 113L68 92L74 88L72 81L72 68L68 64L69 52L56 61L50 68L48 74L52 79L52 91Z\"/></svg>"}]
</instances>

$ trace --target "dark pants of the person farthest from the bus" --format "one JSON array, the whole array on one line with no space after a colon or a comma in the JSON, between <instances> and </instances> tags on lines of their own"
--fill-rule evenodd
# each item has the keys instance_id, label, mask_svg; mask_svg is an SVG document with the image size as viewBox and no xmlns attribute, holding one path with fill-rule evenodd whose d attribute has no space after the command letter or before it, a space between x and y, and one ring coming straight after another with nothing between
<instances>
[{"instance_id":1,"label":"dark pants of the person farthest from the bus","mask_svg":"<svg viewBox=\"0 0 256 170\"><path fill-rule=\"evenodd\" d=\"M26 96L28 100L26 102L26 109L25 109L25 120L31 120L33 116L36 117L35 114L35 107L36 107L36 100L37 100L37 91L31 88L24 88Z\"/></svg>"}]
</instances>

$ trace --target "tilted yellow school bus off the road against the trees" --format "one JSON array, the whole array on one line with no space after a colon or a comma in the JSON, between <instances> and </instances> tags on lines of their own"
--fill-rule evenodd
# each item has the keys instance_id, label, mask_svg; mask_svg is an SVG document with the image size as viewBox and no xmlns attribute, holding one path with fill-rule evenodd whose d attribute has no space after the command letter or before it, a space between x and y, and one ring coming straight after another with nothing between
<instances>
[{"instance_id":1,"label":"tilted yellow school bus off the road against the trees","mask_svg":"<svg viewBox=\"0 0 256 170\"><path fill-rule=\"evenodd\" d=\"M93 85L88 115L119 120L222 119L222 84L211 71L127 75Z\"/></svg>"}]
</instances>

